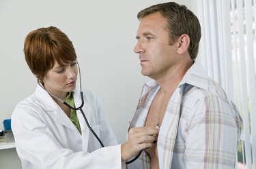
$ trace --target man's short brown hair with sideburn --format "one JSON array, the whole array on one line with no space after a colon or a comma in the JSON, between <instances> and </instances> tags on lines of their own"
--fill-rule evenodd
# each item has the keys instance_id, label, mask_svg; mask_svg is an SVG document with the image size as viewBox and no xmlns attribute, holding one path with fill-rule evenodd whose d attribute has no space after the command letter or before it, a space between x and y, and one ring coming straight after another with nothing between
<instances>
[{"instance_id":1,"label":"man's short brown hair with sideburn","mask_svg":"<svg viewBox=\"0 0 256 169\"><path fill-rule=\"evenodd\" d=\"M155 12L160 12L160 14L167 19L170 44L173 44L180 35L188 35L190 38L188 52L190 58L195 60L195 58L197 58L199 41L201 39L201 26L197 16L188 10L185 5L169 2L147 7L137 14L137 18L141 20L145 16Z\"/></svg>"}]
</instances>

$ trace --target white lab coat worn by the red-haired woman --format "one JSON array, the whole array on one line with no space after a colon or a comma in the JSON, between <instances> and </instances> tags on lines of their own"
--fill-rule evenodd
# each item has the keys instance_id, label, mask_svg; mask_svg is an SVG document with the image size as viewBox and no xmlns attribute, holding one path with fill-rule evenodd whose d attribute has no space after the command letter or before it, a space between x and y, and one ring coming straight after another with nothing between
<instances>
[{"instance_id":1,"label":"white lab coat worn by the red-haired woman","mask_svg":"<svg viewBox=\"0 0 256 169\"><path fill-rule=\"evenodd\" d=\"M91 128L109 147L100 147L83 115L76 111L80 134L53 98L38 86L12 113L12 131L23 168L122 168L121 146L98 98L88 90L83 91L83 96L83 111ZM74 102L76 107L81 105L79 91L74 92Z\"/></svg>"}]
</instances>

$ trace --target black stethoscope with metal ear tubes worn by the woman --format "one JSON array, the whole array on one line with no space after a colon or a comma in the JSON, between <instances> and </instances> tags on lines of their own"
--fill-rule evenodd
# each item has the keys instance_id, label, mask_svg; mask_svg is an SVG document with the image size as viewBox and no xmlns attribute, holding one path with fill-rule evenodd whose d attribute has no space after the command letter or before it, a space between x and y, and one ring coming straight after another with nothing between
<instances>
[{"instance_id":1,"label":"black stethoscope with metal ear tubes worn by the woman","mask_svg":"<svg viewBox=\"0 0 256 169\"><path fill-rule=\"evenodd\" d=\"M94 134L94 136L97 138L98 142L100 143L101 147L104 147L102 141L100 140L100 138L98 137L98 135L94 132L94 130L91 128L91 126L89 125L89 122L87 120L87 118L85 117L85 113L83 112L83 105L84 105L84 100L83 100L83 91L82 91L82 84L81 84L81 71L80 71L80 67L79 67L79 62L76 61L77 67L79 68L79 88L80 88L80 98L81 98L81 105L79 107L72 107L71 105L69 105L65 100L62 100L61 98L58 98L57 96L55 96L54 94L51 94L51 92L48 92L48 90L46 90L46 88L44 88L44 86L42 85L42 83L40 83L39 79L38 79L38 85L44 90L46 91L48 94L50 94L51 96L53 96L54 98L56 98L57 100L59 100L60 102L62 102L64 105L66 105L67 107L69 107L70 109L74 110L74 111L81 111L83 118L85 119L85 123L88 126L89 130L91 131L92 134ZM139 152L139 154L134 157L133 159L131 159L130 161L126 162L126 164L130 164L132 162L134 162L140 155L141 152Z\"/></svg>"}]
</instances>

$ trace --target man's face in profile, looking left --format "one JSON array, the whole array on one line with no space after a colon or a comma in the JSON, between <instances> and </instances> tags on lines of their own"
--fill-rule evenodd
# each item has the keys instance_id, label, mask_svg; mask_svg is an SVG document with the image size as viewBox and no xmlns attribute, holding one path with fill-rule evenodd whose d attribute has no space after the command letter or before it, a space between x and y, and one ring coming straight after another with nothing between
<instances>
[{"instance_id":1,"label":"man's face in profile, looking left","mask_svg":"<svg viewBox=\"0 0 256 169\"><path fill-rule=\"evenodd\" d=\"M178 62L176 43L170 45L167 20L159 12L142 18L137 31L141 73L152 79L165 77Z\"/></svg>"}]
</instances>

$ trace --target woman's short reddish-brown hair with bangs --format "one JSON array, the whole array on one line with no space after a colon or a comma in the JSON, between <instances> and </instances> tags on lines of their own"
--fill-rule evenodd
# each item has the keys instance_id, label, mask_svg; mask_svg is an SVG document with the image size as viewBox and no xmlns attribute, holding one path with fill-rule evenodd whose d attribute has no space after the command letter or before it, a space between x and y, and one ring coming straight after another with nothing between
<instances>
[{"instance_id":1,"label":"woman's short reddish-brown hair with bangs","mask_svg":"<svg viewBox=\"0 0 256 169\"><path fill-rule=\"evenodd\" d=\"M76 60L76 52L68 36L54 26L31 31L25 38L24 53L27 65L40 80L53 68Z\"/></svg>"}]
</instances>

